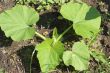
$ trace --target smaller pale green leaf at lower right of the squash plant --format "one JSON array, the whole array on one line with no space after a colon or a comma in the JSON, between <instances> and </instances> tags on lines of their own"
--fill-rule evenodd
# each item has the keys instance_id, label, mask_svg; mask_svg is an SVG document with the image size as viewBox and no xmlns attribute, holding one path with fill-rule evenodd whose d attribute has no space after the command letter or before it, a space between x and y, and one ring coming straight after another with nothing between
<instances>
[{"instance_id":1,"label":"smaller pale green leaf at lower right of the squash plant","mask_svg":"<svg viewBox=\"0 0 110 73\"><path fill-rule=\"evenodd\" d=\"M90 54L85 43L76 42L73 45L72 51L66 51L63 54L64 63L69 66L72 65L75 70L86 70L89 65Z\"/></svg>"}]
</instances>

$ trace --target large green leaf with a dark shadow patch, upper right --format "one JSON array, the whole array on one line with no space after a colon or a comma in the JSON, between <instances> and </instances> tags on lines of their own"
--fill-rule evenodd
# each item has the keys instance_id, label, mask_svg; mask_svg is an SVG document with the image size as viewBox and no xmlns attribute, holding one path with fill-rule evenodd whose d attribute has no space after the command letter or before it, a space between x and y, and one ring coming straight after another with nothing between
<instances>
[{"instance_id":1,"label":"large green leaf with a dark shadow patch, upper right","mask_svg":"<svg viewBox=\"0 0 110 73\"><path fill-rule=\"evenodd\" d=\"M64 18L73 21L73 28L83 38L91 38L100 30L100 13L85 3L67 3L62 5L60 13Z\"/></svg>"}]
</instances>

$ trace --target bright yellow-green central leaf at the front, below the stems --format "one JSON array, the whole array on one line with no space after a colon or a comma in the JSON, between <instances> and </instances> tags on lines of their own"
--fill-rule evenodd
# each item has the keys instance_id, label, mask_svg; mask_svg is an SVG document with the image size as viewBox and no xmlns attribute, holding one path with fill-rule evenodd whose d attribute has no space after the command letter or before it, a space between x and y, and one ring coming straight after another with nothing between
<instances>
[{"instance_id":1,"label":"bright yellow-green central leaf at the front, below the stems","mask_svg":"<svg viewBox=\"0 0 110 73\"><path fill-rule=\"evenodd\" d=\"M37 57L42 72L49 72L54 70L61 61L64 45L61 42L57 42L54 45L52 43L52 39L46 39L36 46L36 50L38 51Z\"/></svg>"}]
</instances>

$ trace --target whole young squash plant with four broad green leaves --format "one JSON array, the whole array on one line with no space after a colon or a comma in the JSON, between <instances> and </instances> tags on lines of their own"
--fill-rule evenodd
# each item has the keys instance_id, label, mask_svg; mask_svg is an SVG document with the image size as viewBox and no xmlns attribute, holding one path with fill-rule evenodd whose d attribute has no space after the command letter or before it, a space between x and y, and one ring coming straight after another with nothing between
<instances>
[{"instance_id":1,"label":"whole young squash plant with four broad green leaves","mask_svg":"<svg viewBox=\"0 0 110 73\"><path fill-rule=\"evenodd\" d=\"M23 5L16 5L1 13L0 27L14 41L32 39L35 34L44 40L35 47L42 72L49 73L54 70L62 58L65 65L72 65L75 70L86 70L90 59L89 44L86 45L81 40L73 44L72 51L64 52L65 47L60 39L71 28L83 39L94 38L100 31L100 13L85 3L66 3L61 6L60 13L73 24L62 34L58 34L55 28L52 38L46 38L35 31L33 26L39 20L39 15L34 9Z\"/></svg>"}]
</instances>

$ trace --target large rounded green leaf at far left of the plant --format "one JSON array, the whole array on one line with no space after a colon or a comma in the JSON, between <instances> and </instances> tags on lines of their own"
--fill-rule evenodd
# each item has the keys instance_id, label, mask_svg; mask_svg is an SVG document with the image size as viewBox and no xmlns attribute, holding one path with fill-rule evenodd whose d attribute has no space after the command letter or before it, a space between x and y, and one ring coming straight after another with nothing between
<instances>
[{"instance_id":1,"label":"large rounded green leaf at far left of the plant","mask_svg":"<svg viewBox=\"0 0 110 73\"><path fill-rule=\"evenodd\" d=\"M16 5L0 14L1 29L7 37L15 41L32 39L35 34L32 25L38 20L38 13L33 8L23 5Z\"/></svg>"}]
</instances>

